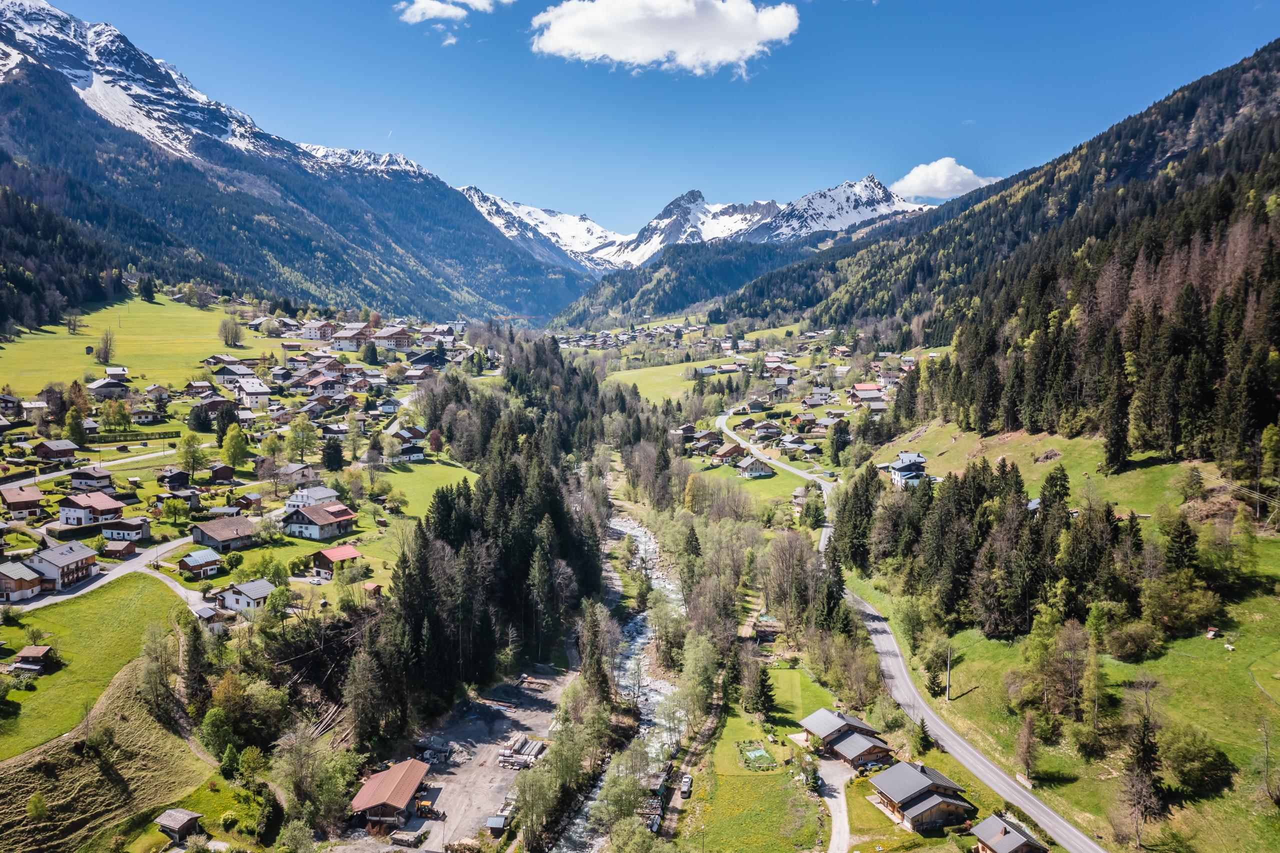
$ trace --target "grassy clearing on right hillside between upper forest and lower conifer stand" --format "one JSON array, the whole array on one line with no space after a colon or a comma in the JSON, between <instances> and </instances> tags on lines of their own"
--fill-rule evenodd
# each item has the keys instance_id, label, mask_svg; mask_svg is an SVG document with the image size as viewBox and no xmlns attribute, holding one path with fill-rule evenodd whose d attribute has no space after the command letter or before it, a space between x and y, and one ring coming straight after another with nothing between
<instances>
[{"instance_id":1,"label":"grassy clearing on right hillside between upper forest and lower conifer stand","mask_svg":"<svg viewBox=\"0 0 1280 853\"><path fill-rule=\"evenodd\" d=\"M1151 512L1157 506L1181 502L1175 483L1179 474L1189 464L1165 464L1152 453L1135 455L1129 467L1120 474L1103 476L1098 473L1102 461L1102 443L1092 437L1064 438L1039 433L1032 435L1019 430L979 438L977 433L965 433L955 424L931 423L925 429L918 429L886 444L876 452L873 460L884 462L897 457L899 451L911 450L928 459L924 470L933 476L948 473L961 473L965 465L986 456L992 467L1004 456L1018 464L1027 492L1034 497L1044 476L1060 462L1071 478L1071 493L1076 500L1087 487L1096 491L1102 500L1116 505L1117 512ZM1044 455L1055 456L1042 462L1036 460ZM1201 465L1206 471L1217 473L1212 464Z\"/></svg>"}]
</instances>

